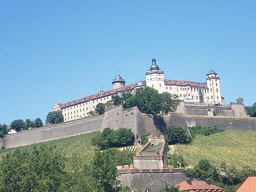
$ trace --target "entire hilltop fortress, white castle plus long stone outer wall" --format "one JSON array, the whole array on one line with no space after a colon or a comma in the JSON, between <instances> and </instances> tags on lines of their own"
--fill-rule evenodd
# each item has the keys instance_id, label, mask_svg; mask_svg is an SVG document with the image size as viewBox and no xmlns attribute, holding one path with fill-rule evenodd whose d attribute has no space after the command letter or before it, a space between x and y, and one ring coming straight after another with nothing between
<instances>
[{"instance_id":1,"label":"entire hilltop fortress, white castle plus long stone outer wall","mask_svg":"<svg viewBox=\"0 0 256 192\"><path fill-rule=\"evenodd\" d=\"M184 127L189 135L189 126L218 126L224 130L252 129L256 130L256 118L247 117L242 98L236 103L224 105L221 96L220 78L210 69L206 75L206 82L182 81L164 79L164 73L152 59L152 66L146 72L146 80L125 86L125 81L117 74L112 82L110 91L100 90L100 93L87 96L67 103L56 103L52 111L61 110L65 122L40 127L0 139L0 147L16 147L69 137L93 131L102 131L105 127L118 129L126 127L135 134L151 133L160 135L167 126L179 125ZM122 91L136 92L140 87L153 87L158 92L178 94L181 103L176 112L167 116L152 116L141 114L137 107L123 110L122 106L111 106L105 109L104 115L88 117L89 111L94 110L96 104L110 101L112 95L120 95Z\"/></svg>"}]
</instances>

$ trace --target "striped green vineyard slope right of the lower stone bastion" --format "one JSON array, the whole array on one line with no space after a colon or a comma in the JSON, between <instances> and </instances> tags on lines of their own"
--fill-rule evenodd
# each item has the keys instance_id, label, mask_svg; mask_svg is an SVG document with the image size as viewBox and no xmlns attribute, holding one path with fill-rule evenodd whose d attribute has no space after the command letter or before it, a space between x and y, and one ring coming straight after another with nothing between
<instances>
[{"instance_id":1,"label":"striped green vineyard slope right of the lower stone bastion","mask_svg":"<svg viewBox=\"0 0 256 192\"><path fill-rule=\"evenodd\" d=\"M220 166L222 161L238 168L256 168L256 131L227 131L206 137L197 137L191 145L175 145L175 153L184 156L189 165L202 158Z\"/></svg>"}]
</instances>

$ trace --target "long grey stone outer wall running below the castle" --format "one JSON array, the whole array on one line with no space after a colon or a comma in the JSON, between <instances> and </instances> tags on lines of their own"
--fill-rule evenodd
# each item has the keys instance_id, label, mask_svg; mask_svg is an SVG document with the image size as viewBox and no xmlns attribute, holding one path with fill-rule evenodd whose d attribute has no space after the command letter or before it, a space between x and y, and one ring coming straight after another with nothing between
<instances>
[{"instance_id":1,"label":"long grey stone outer wall running below the castle","mask_svg":"<svg viewBox=\"0 0 256 192\"><path fill-rule=\"evenodd\" d=\"M29 145L43 141L49 141L93 131L102 131L105 127L118 129L127 127L135 134L151 133L159 135L167 126L180 125L187 134L188 126L218 126L224 130L230 129L254 129L256 130L256 118L249 117L218 117L218 116L192 116L180 113L169 113L168 117L143 115L137 107L131 110L123 110L122 106L113 106L106 109L104 115L92 118L84 118L69 121L57 125L41 127L39 129L24 131L7 135L0 139L0 146L16 147Z\"/></svg>"}]
</instances>

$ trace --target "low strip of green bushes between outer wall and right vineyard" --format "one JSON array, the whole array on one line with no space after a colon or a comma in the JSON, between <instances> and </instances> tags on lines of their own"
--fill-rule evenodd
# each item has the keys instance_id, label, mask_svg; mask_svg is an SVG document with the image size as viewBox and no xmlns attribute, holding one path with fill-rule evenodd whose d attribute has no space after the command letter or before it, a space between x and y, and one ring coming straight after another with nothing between
<instances>
[{"instance_id":1,"label":"low strip of green bushes between outer wall and right vineyard","mask_svg":"<svg viewBox=\"0 0 256 192\"><path fill-rule=\"evenodd\" d=\"M213 126L213 127L192 126L192 127L189 127L189 131L192 137L196 137L198 135L208 136L208 135L224 132L223 129L220 129L217 126Z\"/></svg>"}]
</instances>

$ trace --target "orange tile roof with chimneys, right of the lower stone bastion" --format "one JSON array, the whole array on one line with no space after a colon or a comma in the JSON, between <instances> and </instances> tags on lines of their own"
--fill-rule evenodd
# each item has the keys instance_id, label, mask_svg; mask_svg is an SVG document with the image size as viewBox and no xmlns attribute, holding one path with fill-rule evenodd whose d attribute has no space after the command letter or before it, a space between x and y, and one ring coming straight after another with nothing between
<instances>
[{"instance_id":1,"label":"orange tile roof with chimneys, right of the lower stone bastion","mask_svg":"<svg viewBox=\"0 0 256 192\"><path fill-rule=\"evenodd\" d=\"M212 184L209 185L205 181L191 180L191 185L188 184L187 181L182 181L176 185L176 187L177 186L179 186L179 191L189 190L189 192L224 192L223 188Z\"/></svg>"}]
</instances>

